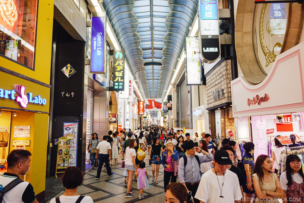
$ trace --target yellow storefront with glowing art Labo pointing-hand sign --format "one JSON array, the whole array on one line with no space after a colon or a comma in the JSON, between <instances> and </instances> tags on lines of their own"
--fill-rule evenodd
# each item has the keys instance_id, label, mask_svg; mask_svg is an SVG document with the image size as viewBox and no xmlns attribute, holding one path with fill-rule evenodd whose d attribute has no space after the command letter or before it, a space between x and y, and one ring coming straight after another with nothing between
<instances>
[{"instance_id":1,"label":"yellow storefront with glowing art Labo pointing-hand sign","mask_svg":"<svg viewBox=\"0 0 304 203\"><path fill-rule=\"evenodd\" d=\"M32 153L31 166L21 179L33 185L37 200L42 201L46 167L41 167L41 163L45 164L47 157L53 5L40 3L38 12L38 0L9 3L9 18L0 20L0 173L7 170L10 151L28 150Z\"/></svg>"}]
</instances>

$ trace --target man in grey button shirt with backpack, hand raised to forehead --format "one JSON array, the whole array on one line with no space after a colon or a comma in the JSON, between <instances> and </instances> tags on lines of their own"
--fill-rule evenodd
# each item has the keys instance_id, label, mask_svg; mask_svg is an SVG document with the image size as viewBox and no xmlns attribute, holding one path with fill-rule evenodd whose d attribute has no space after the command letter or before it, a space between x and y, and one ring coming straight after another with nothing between
<instances>
[{"instance_id":1,"label":"man in grey button shirt with backpack, hand raised to forehead","mask_svg":"<svg viewBox=\"0 0 304 203\"><path fill-rule=\"evenodd\" d=\"M192 197L194 197L199 187L199 181L201 180L199 166L201 163L212 161L213 156L196 147L192 140L186 142L184 145L187 154L179 159L178 180L181 184L185 185L188 192L192 192ZM206 156L197 156L195 152L201 152ZM194 198L194 203L199 203L199 200Z\"/></svg>"}]
</instances>

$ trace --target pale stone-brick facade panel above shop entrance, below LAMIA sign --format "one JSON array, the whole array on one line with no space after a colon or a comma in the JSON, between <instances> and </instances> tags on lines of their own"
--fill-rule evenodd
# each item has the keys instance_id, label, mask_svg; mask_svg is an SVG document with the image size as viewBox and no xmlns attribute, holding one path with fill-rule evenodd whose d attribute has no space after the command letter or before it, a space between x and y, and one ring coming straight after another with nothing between
<instances>
[{"instance_id":1,"label":"pale stone-brick facade panel above shop entrance, below LAMIA sign","mask_svg":"<svg viewBox=\"0 0 304 203\"><path fill-rule=\"evenodd\" d=\"M209 75L206 76L207 87L207 107L231 102L231 61L225 60L216 67ZM222 89L223 96L214 100L214 91Z\"/></svg>"}]
</instances>

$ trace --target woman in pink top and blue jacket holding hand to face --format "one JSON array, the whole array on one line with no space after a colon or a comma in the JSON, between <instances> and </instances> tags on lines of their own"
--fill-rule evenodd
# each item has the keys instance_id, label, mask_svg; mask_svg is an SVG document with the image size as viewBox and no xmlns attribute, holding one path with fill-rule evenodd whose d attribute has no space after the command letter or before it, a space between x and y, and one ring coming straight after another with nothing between
<instances>
[{"instance_id":1,"label":"woman in pink top and blue jacket holding hand to face","mask_svg":"<svg viewBox=\"0 0 304 203\"><path fill-rule=\"evenodd\" d=\"M164 166L164 189L166 190L169 184L170 178L171 183L176 183L177 178L177 160L178 151L173 150L172 142L169 140L166 142L167 151L163 153L162 164Z\"/></svg>"}]
</instances>

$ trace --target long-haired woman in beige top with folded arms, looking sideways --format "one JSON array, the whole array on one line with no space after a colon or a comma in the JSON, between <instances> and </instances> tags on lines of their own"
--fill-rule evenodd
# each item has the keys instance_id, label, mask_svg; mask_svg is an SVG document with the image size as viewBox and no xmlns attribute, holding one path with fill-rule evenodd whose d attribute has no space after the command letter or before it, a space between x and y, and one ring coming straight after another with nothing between
<instances>
[{"instance_id":1,"label":"long-haired woman in beige top with folded arms, looking sideways","mask_svg":"<svg viewBox=\"0 0 304 203\"><path fill-rule=\"evenodd\" d=\"M272 163L267 155L260 155L255 161L252 183L257 201L256 203L279 203L275 198L283 198L283 190L277 174L271 173ZM265 201L266 198L266 201Z\"/></svg>"}]
</instances>

